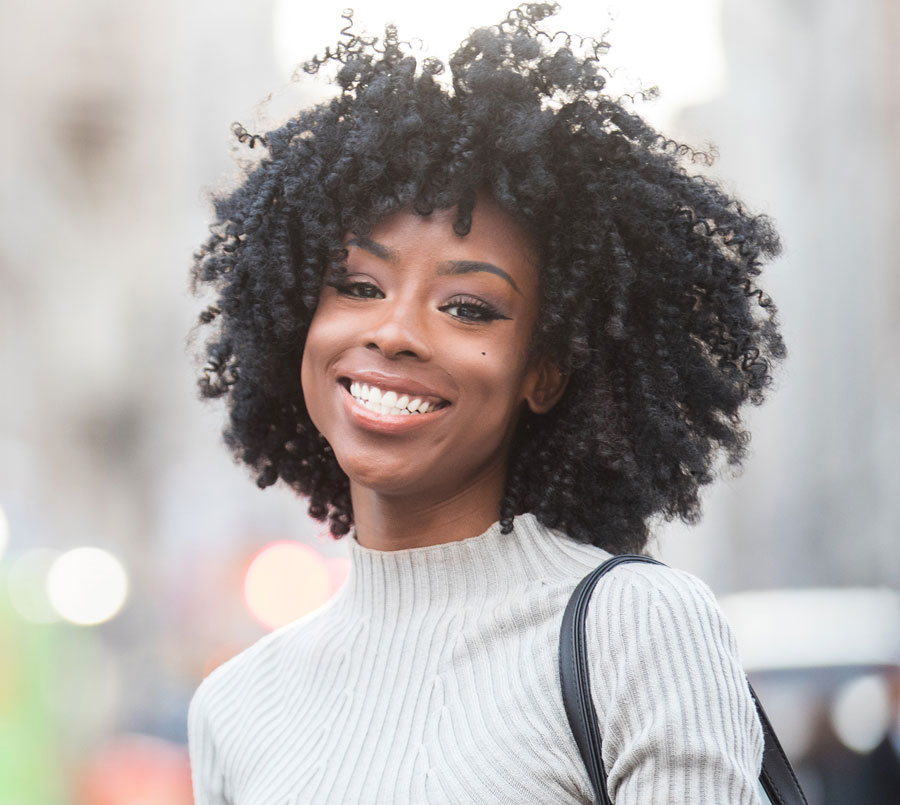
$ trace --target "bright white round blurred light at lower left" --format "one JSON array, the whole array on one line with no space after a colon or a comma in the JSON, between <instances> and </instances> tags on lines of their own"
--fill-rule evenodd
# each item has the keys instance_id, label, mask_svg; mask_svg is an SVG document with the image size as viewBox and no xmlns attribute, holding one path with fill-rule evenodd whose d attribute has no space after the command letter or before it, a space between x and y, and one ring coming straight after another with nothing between
<instances>
[{"instance_id":1,"label":"bright white round blurred light at lower left","mask_svg":"<svg viewBox=\"0 0 900 805\"><path fill-rule=\"evenodd\" d=\"M47 576L47 596L67 621L81 626L103 623L118 614L128 595L122 563L100 548L62 554Z\"/></svg>"}]
</instances>

